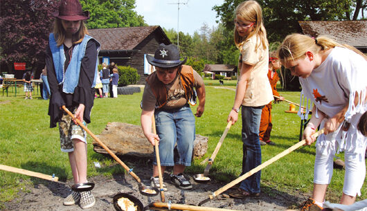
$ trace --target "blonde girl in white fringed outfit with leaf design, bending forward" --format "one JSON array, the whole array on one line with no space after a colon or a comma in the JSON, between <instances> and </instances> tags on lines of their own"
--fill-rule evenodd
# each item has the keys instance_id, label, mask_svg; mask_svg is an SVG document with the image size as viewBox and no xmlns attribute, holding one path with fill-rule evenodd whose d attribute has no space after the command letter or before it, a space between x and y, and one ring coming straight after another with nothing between
<instances>
[{"instance_id":1,"label":"blonde girl in white fringed outfit with leaf design, bending forward","mask_svg":"<svg viewBox=\"0 0 367 211\"><path fill-rule=\"evenodd\" d=\"M333 157L341 151L345 152L346 172L340 203L350 205L361 194L366 176L367 138L357 131L357 123L367 110L367 57L328 37L313 39L299 34L285 37L278 55L285 68L299 77L305 96L314 102L312 118L303 132L306 144L315 141L312 134L319 125L325 129L316 142L314 191L307 206L323 208Z\"/></svg>"}]
</instances>

